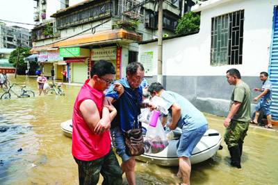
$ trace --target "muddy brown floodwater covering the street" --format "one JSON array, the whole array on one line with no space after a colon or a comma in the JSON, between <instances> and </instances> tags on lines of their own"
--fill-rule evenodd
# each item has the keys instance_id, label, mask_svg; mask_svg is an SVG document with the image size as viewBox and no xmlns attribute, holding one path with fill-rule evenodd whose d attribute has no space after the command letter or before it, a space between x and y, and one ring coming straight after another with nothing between
<instances>
[{"instance_id":1,"label":"muddy brown floodwater covering the street","mask_svg":"<svg viewBox=\"0 0 278 185\"><path fill-rule=\"evenodd\" d=\"M34 98L0 100L0 184L78 184L72 139L63 135L60 123L72 117L80 87L63 85L65 96L38 96L35 78L18 76L16 80L25 81L35 91ZM206 118L209 127L223 136L224 118ZM278 184L278 132L252 126L247 134L242 169L229 166L229 152L222 141L223 150L193 166L191 184ZM138 162L136 179L138 184L176 184L177 169Z\"/></svg>"}]
</instances>

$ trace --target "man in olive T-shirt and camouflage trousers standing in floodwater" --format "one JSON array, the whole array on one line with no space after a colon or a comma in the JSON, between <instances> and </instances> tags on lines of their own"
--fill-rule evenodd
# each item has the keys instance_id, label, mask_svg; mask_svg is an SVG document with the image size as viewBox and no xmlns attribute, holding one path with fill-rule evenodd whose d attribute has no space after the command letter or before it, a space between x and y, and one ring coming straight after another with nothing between
<instances>
[{"instance_id":1,"label":"man in olive T-shirt and camouflage trousers standing in floodwater","mask_svg":"<svg viewBox=\"0 0 278 185\"><path fill-rule=\"evenodd\" d=\"M231 94L229 114L224 120L224 127L226 127L224 141L231 155L231 166L241 168L243 140L247 135L250 122L251 91L250 87L241 80L238 69L229 69L226 77L229 85L235 87Z\"/></svg>"}]
</instances>

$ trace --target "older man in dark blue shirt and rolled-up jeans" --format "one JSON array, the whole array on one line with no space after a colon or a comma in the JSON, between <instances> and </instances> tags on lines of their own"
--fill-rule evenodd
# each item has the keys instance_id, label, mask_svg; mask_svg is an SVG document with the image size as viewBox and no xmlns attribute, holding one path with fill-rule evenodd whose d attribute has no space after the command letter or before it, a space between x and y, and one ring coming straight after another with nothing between
<instances>
[{"instance_id":1,"label":"older man in dark blue shirt and rolled-up jeans","mask_svg":"<svg viewBox=\"0 0 278 185\"><path fill-rule=\"evenodd\" d=\"M135 157L126 154L124 132L139 127L137 120L141 107L151 107L142 104L142 86L144 67L139 62L131 62L126 67L126 78L117 80L106 91L106 97L117 109L117 116L111 123L111 137L116 152L122 157L122 172L126 173L129 184L136 184ZM152 106L153 107L153 106Z\"/></svg>"}]
</instances>

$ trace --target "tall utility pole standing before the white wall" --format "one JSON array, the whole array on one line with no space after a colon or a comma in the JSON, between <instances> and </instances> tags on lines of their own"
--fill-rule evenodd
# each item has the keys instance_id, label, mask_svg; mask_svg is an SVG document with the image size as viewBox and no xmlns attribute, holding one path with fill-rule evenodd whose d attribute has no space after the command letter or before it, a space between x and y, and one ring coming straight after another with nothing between
<instances>
[{"instance_id":1,"label":"tall utility pole standing before the white wall","mask_svg":"<svg viewBox=\"0 0 278 185\"><path fill-rule=\"evenodd\" d=\"M162 76L162 39L163 39L163 0L159 0L158 3L158 59L157 59L157 81L163 85Z\"/></svg>"}]
</instances>

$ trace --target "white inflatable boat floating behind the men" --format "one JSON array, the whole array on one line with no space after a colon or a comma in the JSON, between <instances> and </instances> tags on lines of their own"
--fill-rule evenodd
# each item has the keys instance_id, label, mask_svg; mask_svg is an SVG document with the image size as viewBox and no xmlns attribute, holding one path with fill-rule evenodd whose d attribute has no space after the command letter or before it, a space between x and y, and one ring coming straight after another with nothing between
<instances>
[{"instance_id":1,"label":"white inflatable boat floating behind the men","mask_svg":"<svg viewBox=\"0 0 278 185\"><path fill-rule=\"evenodd\" d=\"M146 128L146 126L147 124L142 124L142 127ZM72 120L61 123L60 127L66 136L72 137ZM139 161L149 161L160 166L179 166L177 157L178 135L179 133L177 134L176 132L176 138L168 140L169 145L163 151L151 155L140 155L136 159ZM213 157L220 148L221 141L222 137L217 130L208 129L193 150L193 155L190 157L191 164L197 164Z\"/></svg>"}]
</instances>

